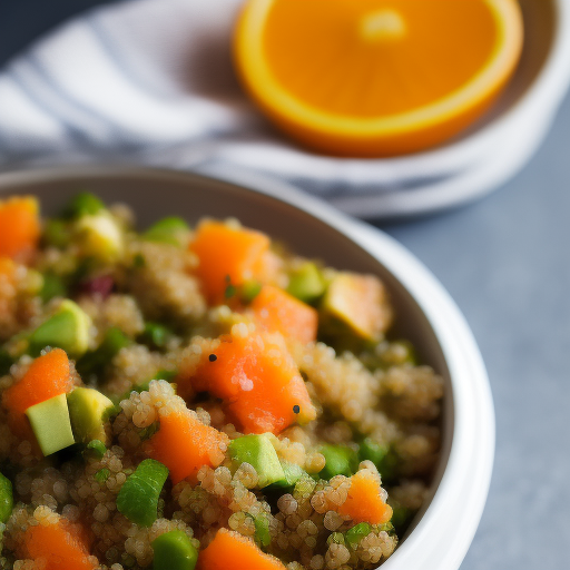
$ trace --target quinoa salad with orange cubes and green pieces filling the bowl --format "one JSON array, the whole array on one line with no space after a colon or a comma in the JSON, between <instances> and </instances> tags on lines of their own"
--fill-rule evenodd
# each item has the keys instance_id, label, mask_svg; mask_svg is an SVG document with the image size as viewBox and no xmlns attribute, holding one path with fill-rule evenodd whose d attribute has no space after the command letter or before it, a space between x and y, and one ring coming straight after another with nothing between
<instances>
[{"instance_id":1,"label":"quinoa salad with orange cubes and green pieces filling the bowl","mask_svg":"<svg viewBox=\"0 0 570 570\"><path fill-rule=\"evenodd\" d=\"M236 219L0 199L0 568L376 568L441 444L394 320Z\"/></svg>"}]
</instances>

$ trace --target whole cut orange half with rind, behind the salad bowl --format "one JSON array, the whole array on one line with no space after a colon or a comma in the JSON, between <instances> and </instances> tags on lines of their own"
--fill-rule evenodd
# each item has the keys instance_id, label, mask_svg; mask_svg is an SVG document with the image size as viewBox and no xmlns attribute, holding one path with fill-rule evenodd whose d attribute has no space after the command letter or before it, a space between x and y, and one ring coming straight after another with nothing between
<instances>
[{"instance_id":1,"label":"whole cut orange half with rind, behind the salad bowl","mask_svg":"<svg viewBox=\"0 0 570 570\"><path fill-rule=\"evenodd\" d=\"M520 57L517 0L249 0L234 56L261 109L344 156L420 150L475 120Z\"/></svg>"}]
</instances>

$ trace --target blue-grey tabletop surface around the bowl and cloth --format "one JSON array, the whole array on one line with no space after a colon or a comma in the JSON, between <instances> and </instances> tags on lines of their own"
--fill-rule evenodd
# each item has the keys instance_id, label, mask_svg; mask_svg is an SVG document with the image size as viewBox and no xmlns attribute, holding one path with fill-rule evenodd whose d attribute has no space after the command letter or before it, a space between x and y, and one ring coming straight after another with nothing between
<instances>
[{"instance_id":1,"label":"blue-grey tabletop surface around the bowl and cloth","mask_svg":"<svg viewBox=\"0 0 570 570\"><path fill-rule=\"evenodd\" d=\"M0 0L0 65L56 23L100 3ZM462 570L570 568L569 214L567 98L538 155L490 197L430 218L376 224L451 293L491 379L495 466Z\"/></svg>"}]
</instances>

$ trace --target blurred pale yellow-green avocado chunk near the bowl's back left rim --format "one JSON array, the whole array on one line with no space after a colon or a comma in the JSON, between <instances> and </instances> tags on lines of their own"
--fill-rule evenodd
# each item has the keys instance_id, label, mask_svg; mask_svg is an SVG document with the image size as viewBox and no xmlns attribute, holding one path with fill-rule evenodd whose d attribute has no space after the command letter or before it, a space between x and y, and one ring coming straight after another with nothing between
<instances>
[{"instance_id":1,"label":"blurred pale yellow-green avocado chunk near the bowl's back left rim","mask_svg":"<svg viewBox=\"0 0 570 570\"><path fill-rule=\"evenodd\" d=\"M77 222L78 239L82 254L104 263L114 263L124 252L122 232L117 222L102 212L95 216L82 216Z\"/></svg>"}]
</instances>

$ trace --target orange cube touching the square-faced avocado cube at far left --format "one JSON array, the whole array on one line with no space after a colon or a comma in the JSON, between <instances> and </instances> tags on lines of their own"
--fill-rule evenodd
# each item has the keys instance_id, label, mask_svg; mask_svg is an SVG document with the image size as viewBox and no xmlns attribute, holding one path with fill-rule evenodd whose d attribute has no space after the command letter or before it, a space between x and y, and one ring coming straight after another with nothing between
<instances>
[{"instance_id":1,"label":"orange cube touching the square-faced avocado cube at far left","mask_svg":"<svg viewBox=\"0 0 570 570\"><path fill-rule=\"evenodd\" d=\"M12 432L21 438L31 434L26 410L50 397L66 394L73 389L69 375L69 358L61 348L53 348L39 356L19 382L2 394L2 405L8 410Z\"/></svg>"}]
</instances>

